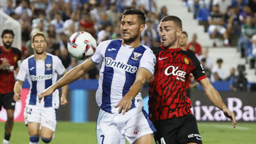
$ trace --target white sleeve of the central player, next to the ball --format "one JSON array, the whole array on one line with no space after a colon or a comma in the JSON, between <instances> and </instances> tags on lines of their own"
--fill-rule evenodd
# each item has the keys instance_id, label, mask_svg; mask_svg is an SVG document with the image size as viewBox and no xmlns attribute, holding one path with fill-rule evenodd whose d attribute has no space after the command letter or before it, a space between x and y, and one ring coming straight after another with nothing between
<instances>
[{"instance_id":1,"label":"white sleeve of the central player, next to the ball","mask_svg":"<svg viewBox=\"0 0 256 144\"><path fill-rule=\"evenodd\" d=\"M107 41L101 42L97 46L96 51L94 52L91 58L93 63L102 63L102 61L104 60L104 51L106 50L106 47L108 47L110 42L111 42L110 40L107 40Z\"/></svg>"}]
</instances>

